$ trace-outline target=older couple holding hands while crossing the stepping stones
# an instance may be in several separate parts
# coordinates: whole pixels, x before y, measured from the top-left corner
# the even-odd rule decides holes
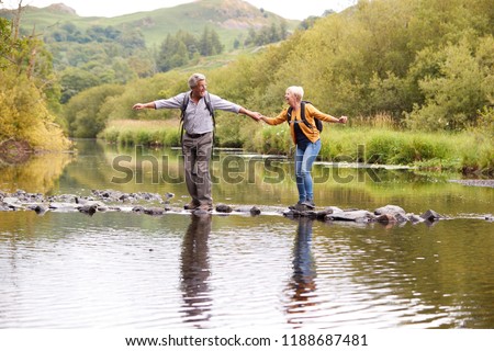
[[[259,112],[252,112],[238,104],[224,100],[207,92],[204,75],[194,73],[189,78],[190,91],[182,92],[169,99],[147,103],[136,103],[133,110],[143,109],[183,109],[182,150],[184,156],[186,184],[191,202],[186,210],[213,210],[210,160],[213,148],[214,110],[240,113],[255,121],[262,120],[269,125],[288,122],[290,134],[296,146],[295,178],[299,190],[299,206],[315,208],[312,180],[312,165],[321,150],[321,132],[316,127],[316,118],[329,123],[347,123],[347,117],[336,118],[318,111],[311,103],[302,101],[302,87],[289,87],[284,93],[288,107],[276,117],[267,117]],[[184,102],[187,105],[183,106]]]

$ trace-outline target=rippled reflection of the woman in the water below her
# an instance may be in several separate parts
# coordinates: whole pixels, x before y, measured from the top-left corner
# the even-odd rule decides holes
[[[312,256],[312,224],[306,217],[299,218],[295,242],[293,245],[293,275],[289,283],[290,302],[288,314],[303,314],[306,307],[314,306],[312,302],[316,291],[316,269]],[[293,316],[290,324],[302,324]]]

